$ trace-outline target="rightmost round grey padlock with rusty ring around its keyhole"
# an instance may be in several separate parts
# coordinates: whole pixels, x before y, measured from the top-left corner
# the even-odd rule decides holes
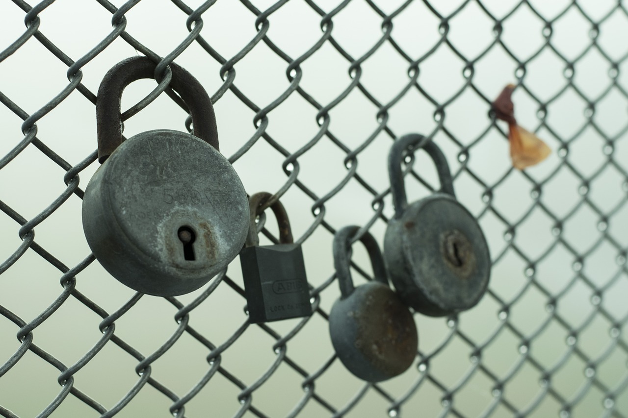
[[[416,147],[436,164],[441,191],[408,205],[401,161]],[[434,142],[409,134],[394,142],[388,169],[395,213],[384,258],[399,296],[430,316],[472,308],[489,284],[489,247],[475,217],[455,198],[447,159]]]

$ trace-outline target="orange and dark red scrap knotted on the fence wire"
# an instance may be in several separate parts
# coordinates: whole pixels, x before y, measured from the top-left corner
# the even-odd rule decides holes
[[[512,90],[514,90],[512,84],[504,87],[492,106],[495,117],[508,123],[512,166],[522,170],[546,159],[551,154],[551,149],[538,136],[517,124],[511,99]]]

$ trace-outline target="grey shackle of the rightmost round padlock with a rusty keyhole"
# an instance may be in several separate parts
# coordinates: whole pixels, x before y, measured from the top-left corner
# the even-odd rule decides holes
[[[413,151],[422,148],[428,153],[438,172],[438,180],[440,181],[441,191],[455,197],[453,191],[452,173],[449,170],[447,158],[440,148],[432,141],[421,134],[408,134],[397,139],[391,151],[388,154],[388,174],[391,183],[391,192],[393,193],[394,217],[401,218],[404,210],[408,206],[408,197],[406,196],[406,187],[404,185],[403,171],[401,170],[401,161],[403,153],[410,147]]]

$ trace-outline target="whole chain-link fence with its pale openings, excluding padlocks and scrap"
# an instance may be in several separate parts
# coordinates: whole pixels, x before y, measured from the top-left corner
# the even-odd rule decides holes
[[[13,3],[0,37],[0,415],[628,416],[621,1]],[[17,19],[23,33],[9,30]],[[197,292],[158,298],[89,254],[80,198],[97,166],[94,92],[135,53],[180,63],[213,93],[222,152],[247,191],[288,208],[311,318],[249,324],[237,261]],[[527,171],[510,166],[489,113],[511,81],[517,119],[555,150]],[[123,104],[157,99],[127,110],[127,137],[183,129],[166,83],[138,84]],[[328,341],[330,242],[349,223],[381,239],[384,156],[407,132],[450,159],[492,281],[466,313],[416,314],[415,365],[366,384]],[[425,156],[407,163],[411,198],[438,188]],[[354,252],[355,280],[368,279]]]

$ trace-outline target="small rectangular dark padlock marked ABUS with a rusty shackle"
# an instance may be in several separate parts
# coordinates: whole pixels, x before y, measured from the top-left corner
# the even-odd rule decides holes
[[[270,207],[279,225],[280,244],[259,245],[257,211],[271,196],[261,192],[249,198],[251,224],[240,252],[249,321],[254,324],[312,313],[301,245],[293,244],[288,214],[279,200]]]

